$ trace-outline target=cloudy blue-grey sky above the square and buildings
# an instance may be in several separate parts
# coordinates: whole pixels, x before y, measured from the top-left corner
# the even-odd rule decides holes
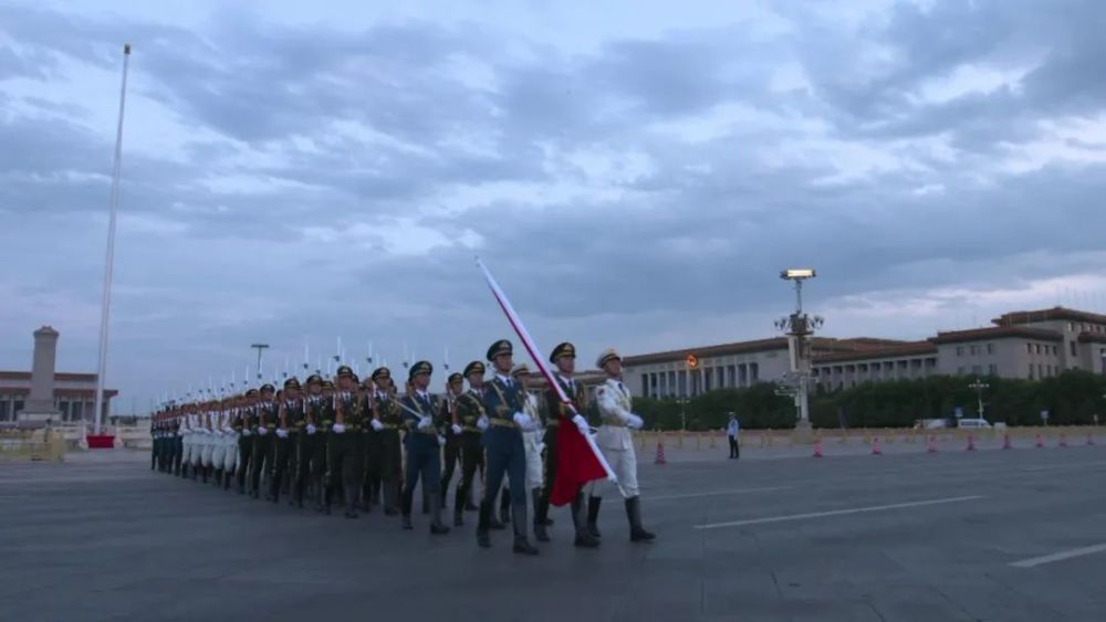
[[[95,369],[127,41],[116,411],[482,358],[474,255],[583,367],[771,336],[787,265],[836,337],[1106,305],[1099,0],[388,4],[4,2],[0,369]]]

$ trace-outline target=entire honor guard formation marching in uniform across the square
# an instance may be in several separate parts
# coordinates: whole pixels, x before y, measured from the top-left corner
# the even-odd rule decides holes
[[[302,384],[289,378],[280,390],[262,384],[240,396],[176,404],[154,418],[150,468],[273,504],[282,495],[296,508],[306,500],[327,515],[341,506],[351,519],[379,508],[398,515],[405,530],[414,528],[417,489],[431,534],[449,534],[441,514],[451,505],[453,527],[465,526],[465,513],[478,513],[480,547],[490,547],[492,530],[510,524],[513,550],[521,555],[539,554],[529,539],[531,512],[534,539],[550,541],[551,498],[571,508],[574,545],[598,547],[603,493],[614,488],[625,503],[630,540],[653,540],[641,526],[630,436],[643,421],[630,410],[618,354],[599,355],[606,380],[589,394],[573,378],[575,347],[560,344],[550,362],[561,391],[549,387],[542,398],[526,389],[531,371],[513,357],[511,341],[495,341],[488,349],[490,369],[470,362],[463,373],[449,376],[440,394],[430,392],[434,367],[418,361],[401,394],[387,367],[362,382],[341,366],[334,382],[315,373]],[[594,433],[582,417],[587,412],[597,417]],[[570,484],[567,495],[551,494],[559,476],[571,479],[573,465],[557,445],[564,433],[576,432],[598,447],[615,479],[592,478]]]

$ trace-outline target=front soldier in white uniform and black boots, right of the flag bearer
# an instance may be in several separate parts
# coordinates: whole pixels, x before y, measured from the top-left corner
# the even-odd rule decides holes
[[[604,350],[595,366],[607,375],[607,380],[595,389],[598,405],[599,426],[595,441],[618,477],[617,488],[626,499],[626,517],[629,520],[629,539],[646,542],[656,538],[641,527],[641,505],[637,489],[637,455],[630,429],[641,428],[641,418],[634,414],[629,389],[622,381],[622,357],[614,349]],[[594,493],[593,493],[594,494]],[[598,496],[598,495],[596,495]]]

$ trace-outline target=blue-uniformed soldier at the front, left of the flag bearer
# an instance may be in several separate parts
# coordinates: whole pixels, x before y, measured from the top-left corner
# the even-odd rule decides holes
[[[511,378],[513,354],[513,347],[507,339],[500,339],[488,348],[488,360],[495,368],[495,378],[484,391],[486,415],[479,422],[484,429],[488,477],[484,497],[480,503],[477,544],[483,548],[491,547],[488,530],[491,526],[492,504],[505,474],[513,504],[513,550],[520,555],[538,555],[538,549],[526,538],[526,450],[522,443],[522,432],[535,429],[536,422],[525,413],[523,388]]]

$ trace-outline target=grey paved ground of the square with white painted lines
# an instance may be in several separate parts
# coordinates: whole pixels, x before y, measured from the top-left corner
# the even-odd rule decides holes
[[[1106,544],[1106,449],[787,451],[649,453],[657,542],[628,542],[608,495],[601,549],[574,549],[556,509],[539,558],[513,556],[508,533],[477,548],[472,514],[446,537],[416,514],[406,533],[153,473],[140,454],[4,463],[0,618],[1103,619],[1106,547],[1088,547]]]

